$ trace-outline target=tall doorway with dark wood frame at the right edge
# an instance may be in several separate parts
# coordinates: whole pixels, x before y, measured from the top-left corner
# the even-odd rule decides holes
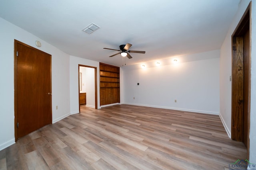
[[[250,147],[251,5],[232,34],[231,138]]]

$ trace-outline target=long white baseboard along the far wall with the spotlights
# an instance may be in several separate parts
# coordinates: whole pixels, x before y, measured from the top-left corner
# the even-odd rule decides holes
[[[196,112],[196,113],[206,113],[206,114],[211,114],[211,115],[219,115],[218,112],[214,112],[214,111],[202,111],[202,110],[193,110],[193,109],[182,109],[182,108],[177,108],[177,107],[164,107],[164,106],[154,106],[154,105],[134,104],[134,103],[124,103],[124,104],[130,104],[130,105],[135,105],[135,106],[145,106],[145,107],[155,107],[155,108],[160,108],[160,109],[190,111],[190,112]]]

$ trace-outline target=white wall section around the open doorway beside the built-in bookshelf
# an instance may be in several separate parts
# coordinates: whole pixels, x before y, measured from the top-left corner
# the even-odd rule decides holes
[[[70,56],[70,113],[71,114],[79,113],[78,64],[97,67],[98,109],[100,108],[100,83],[99,83],[100,82],[100,73],[99,73],[100,63],[97,61]],[[93,69],[93,72],[94,72],[94,69]],[[87,92],[86,92],[86,96],[87,96]]]

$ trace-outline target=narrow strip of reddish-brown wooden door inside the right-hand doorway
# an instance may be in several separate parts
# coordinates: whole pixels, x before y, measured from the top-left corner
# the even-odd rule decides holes
[[[243,143],[247,147],[248,139],[248,95],[250,78],[250,38],[249,29],[244,35],[244,111],[243,111]]]

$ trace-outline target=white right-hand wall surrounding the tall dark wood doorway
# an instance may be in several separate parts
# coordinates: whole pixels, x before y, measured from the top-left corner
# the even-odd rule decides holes
[[[220,116],[231,132],[231,82],[232,69],[231,35],[244,14],[250,0],[240,1],[238,11],[230,25],[226,38],[220,49]],[[250,108],[250,162],[256,162],[256,0],[252,0],[252,51],[251,51],[251,108]]]

